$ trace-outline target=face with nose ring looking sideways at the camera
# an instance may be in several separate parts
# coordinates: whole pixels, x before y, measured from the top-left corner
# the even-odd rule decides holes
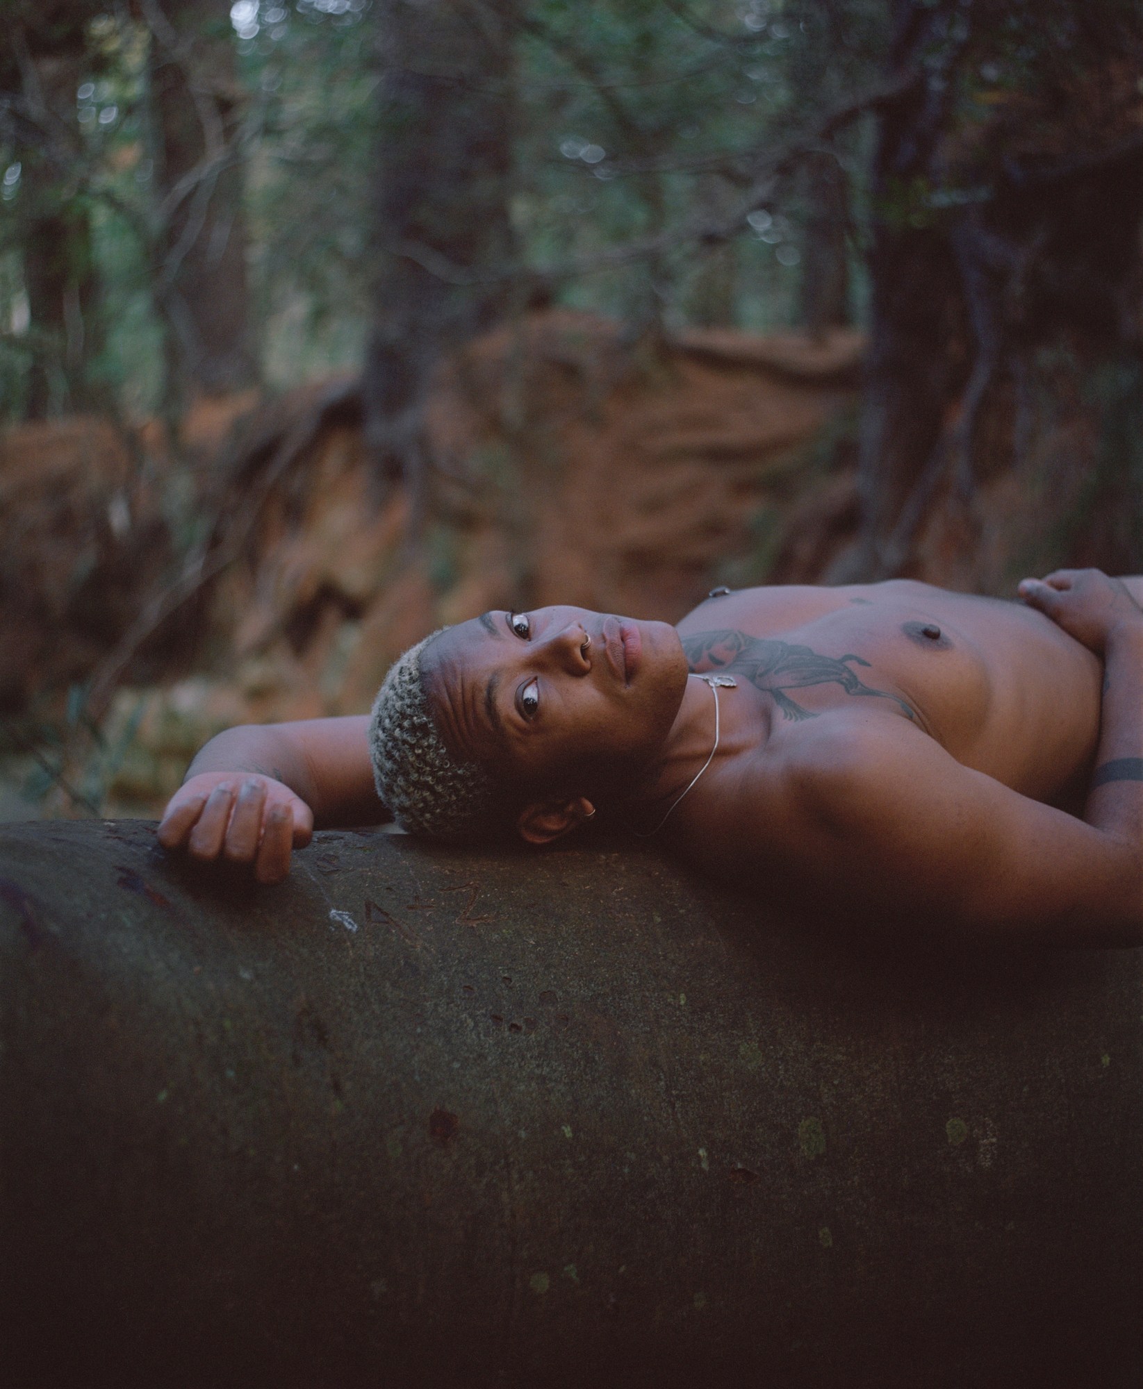
[[[421,669],[456,756],[585,793],[654,761],[687,685],[673,626],[577,607],[485,613],[431,642]]]

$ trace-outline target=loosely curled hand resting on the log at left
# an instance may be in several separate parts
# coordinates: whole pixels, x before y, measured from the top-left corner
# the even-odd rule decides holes
[[[279,882],[289,856],[313,838],[313,811],[289,786],[257,772],[200,772],[167,804],[159,825],[164,849],[192,858],[253,867],[259,882]]]

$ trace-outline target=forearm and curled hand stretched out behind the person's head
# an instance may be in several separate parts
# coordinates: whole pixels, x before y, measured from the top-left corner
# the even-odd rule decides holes
[[[318,826],[378,824],[368,720],[231,728],[196,754],[159,825],[165,849],[249,864],[259,882],[289,872]]]

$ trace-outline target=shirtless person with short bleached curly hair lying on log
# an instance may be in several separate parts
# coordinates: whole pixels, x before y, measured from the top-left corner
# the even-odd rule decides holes
[[[371,720],[211,739],[159,838],[274,882],[314,824],[546,843],[598,811],[787,899],[1143,943],[1143,578],[1019,592],[716,590],[677,628],[485,613],[407,651]]]

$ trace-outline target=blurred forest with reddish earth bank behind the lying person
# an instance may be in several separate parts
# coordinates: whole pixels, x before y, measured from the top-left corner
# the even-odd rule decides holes
[[[489,606],[1143,571],[1137,0],[0,15],[0,817]]]

